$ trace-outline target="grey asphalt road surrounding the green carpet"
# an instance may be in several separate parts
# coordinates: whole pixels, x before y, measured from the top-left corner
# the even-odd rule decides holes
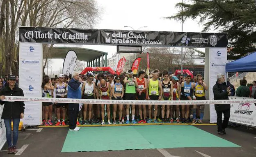
[[[124,126],[125,127],[125,126]],[[217,135],[217,126],[196,126],[213,135]],[[39,128],[36,128],[39,129]],[[227,128],[227,135],[220,136],[241,147],[196,147],[196,148],[165,148],[148,150],[121,150],[101,152],[61,153],[67,127],[43,128],[19,132],[18,148],[25,148],[21,157],[256,157],[256,130],[245,127]],[[200,135],[196,135],[200,138]],[[217,135],[219,136],[219,135]],[[0,157],[7,155],[7,144],[0,152]],[[18,155],[18,154],[16,154]]]

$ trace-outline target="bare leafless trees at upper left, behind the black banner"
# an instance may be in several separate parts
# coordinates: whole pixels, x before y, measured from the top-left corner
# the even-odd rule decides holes
[[[91,28],[99,9],[94,0],[0,0],[0,71],[18,74],[18,26]],[[46,60],[53,45],[44,45]],[[43,71],[46,63],[43,65]]]

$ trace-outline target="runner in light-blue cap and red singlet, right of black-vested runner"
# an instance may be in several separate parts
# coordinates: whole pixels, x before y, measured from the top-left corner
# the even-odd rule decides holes
[[[173,84],[173,100],[181,100],[181,85],[178,83],[178,77],[172,76],[171,77],[171,82]],[[175,106],[175,107],[174,107]],[[174,110],[175,110],[175,116],[176,116],[176,122],[181,123],[179,120],[179,115],[180,115],[180,108],[179,105],[170,105],[170,123],[174,122]]]

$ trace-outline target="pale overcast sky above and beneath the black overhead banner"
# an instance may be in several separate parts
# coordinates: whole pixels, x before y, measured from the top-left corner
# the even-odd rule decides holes
[[[94,29],[129,29],[145,31],[181,31],[181,22],[166,20],[164,17],[175,15],[178,8],[176,3],[182,0],[97,0],[102,9],[101,20]],[[185,0],[185,2],[188,0]],[[187,20],[183,23],[184,32],[201,32],[202,25],[198,20]],[[214,32],[214,31],[212,31]],[[63,45],[62,45],[63,46]],[[71,45],[69,45],[71,46]],[[77,45],[74,45],[77,46]],[[108,53],[112,57],[117,50],[116,46],[78,45],[88,49],[96,49]],[[64,56],[63,56],[64,57]],[[53,59],[52,71],[58,71],[63,65],[62,59]],[[49,70],[48,70],[49,73]]]

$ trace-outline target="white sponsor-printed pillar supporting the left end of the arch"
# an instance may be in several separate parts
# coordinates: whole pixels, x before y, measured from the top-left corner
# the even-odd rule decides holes
[[[19,87],[24,96],[41,97],[43,75],[43,49],[40,43],[20,43],[19,53]],[[25,102],[23,124],[41,124],[41,102]]]

